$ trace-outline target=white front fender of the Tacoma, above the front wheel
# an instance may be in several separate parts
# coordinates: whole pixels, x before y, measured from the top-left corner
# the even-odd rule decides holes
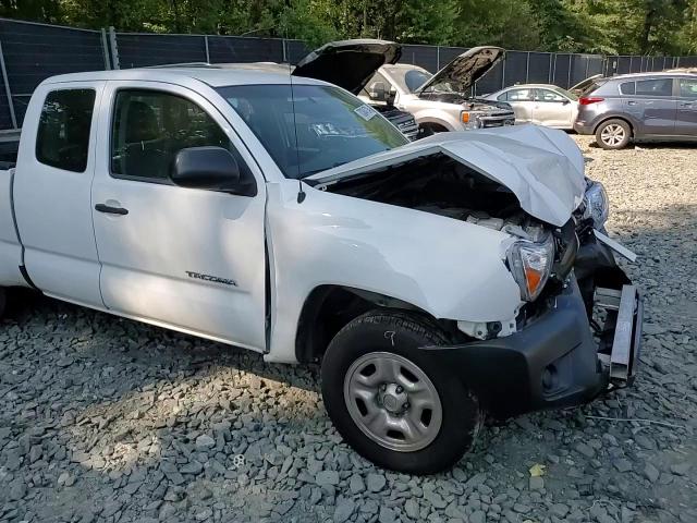
[[[504,264],[508,233],[298,182],[268,185],[271,354],[294,361],[310,292],[344,285],[407,302],[436,318],[512,321],[519,289]]]

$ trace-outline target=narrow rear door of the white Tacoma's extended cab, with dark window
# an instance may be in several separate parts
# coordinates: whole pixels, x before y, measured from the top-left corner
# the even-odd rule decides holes
[[[24,118],[14,207],[24,265],[46,294],[103,307],[90,187],[103,82],[40,85]],[[37,124],[38,122],[38,129]]]

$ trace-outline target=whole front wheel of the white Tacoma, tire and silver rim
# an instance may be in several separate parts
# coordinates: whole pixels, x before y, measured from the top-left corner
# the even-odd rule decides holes
[[[359,454],[409,474],[453,466],[475,442],[482,415],[456,373],[424,346],[447,343],[427,319],[370,312],[329,344],[321,389],[329,417]]]

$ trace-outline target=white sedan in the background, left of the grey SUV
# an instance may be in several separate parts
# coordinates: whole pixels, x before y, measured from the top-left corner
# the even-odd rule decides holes
[[[522,84],[484,97],[508,102],[516,123],[537,123],[554,129],[574,129],[578,114],[578,97],[550,84]]]

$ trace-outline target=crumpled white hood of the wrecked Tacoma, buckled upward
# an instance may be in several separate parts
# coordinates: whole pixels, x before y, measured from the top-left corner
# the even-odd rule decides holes
[[[563,131],[537,125],[440,133],[359,158],[305,179],[317,184],[444,154],[501,183],[530,216],[557,227],[580,204],[586,182],[580,149]]]

